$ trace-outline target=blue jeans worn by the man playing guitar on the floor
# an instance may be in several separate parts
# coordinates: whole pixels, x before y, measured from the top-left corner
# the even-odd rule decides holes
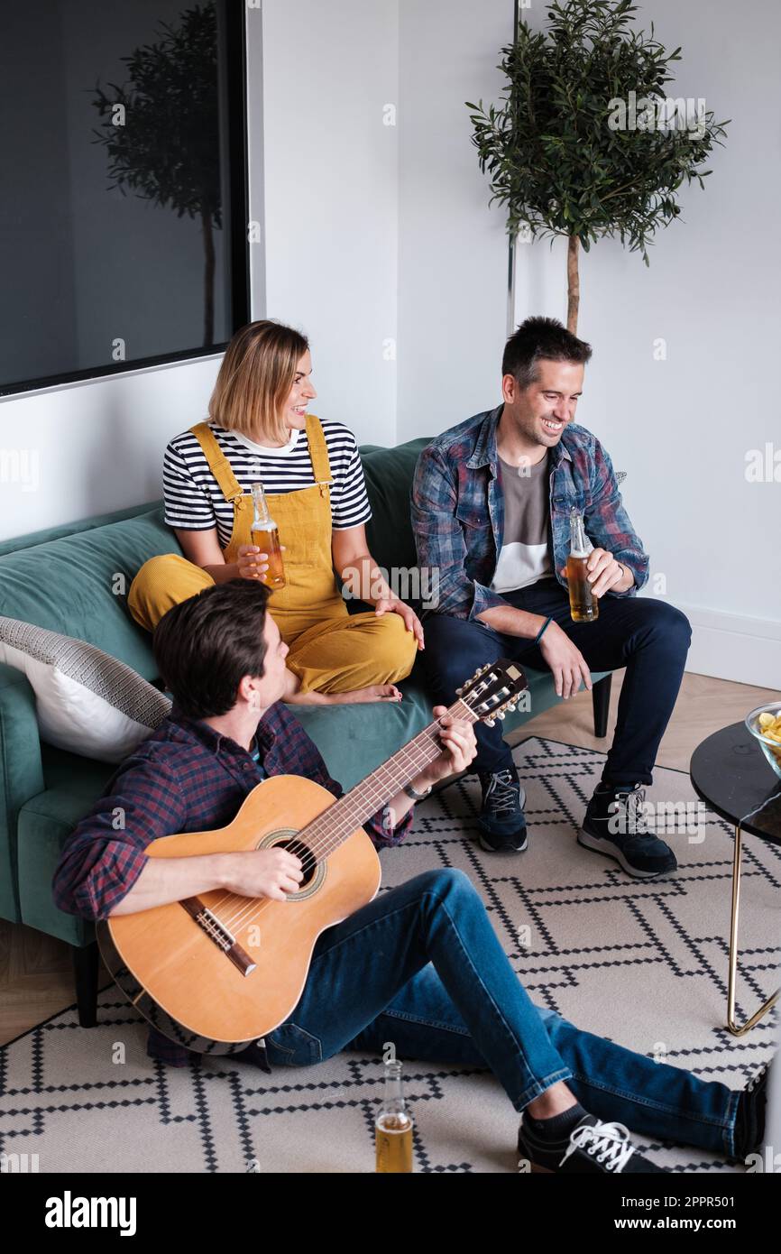
[[[598,1119],[735,1152],[738,1093],[582,1032],[530,1001],[461,870],[429,870],[318,938],[290,1018],[266,1037],[272,1066],[341,1050],[490,1070],[515,1110],[559,1080]]]

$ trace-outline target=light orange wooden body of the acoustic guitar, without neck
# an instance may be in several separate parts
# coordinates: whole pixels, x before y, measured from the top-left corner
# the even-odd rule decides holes
[[[227,826],[153,841],[150,858],[267,849],[295,841],[333,805],[327,789],[297,775],[263,780]],[[336,843],[335,843],[336,844]],[[119,987],[153,1026],[199,1052],[266,1036],[290,1017],[326,928],[366,905],[380,859],[362,828],[327,856],[307,858],[305,880],[283,902],[227,889],[201,893],[98,924],[100,952]]]

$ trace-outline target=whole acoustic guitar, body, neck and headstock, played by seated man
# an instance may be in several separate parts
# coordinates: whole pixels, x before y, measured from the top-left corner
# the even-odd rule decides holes
[[[456,690],[448,714],[493,725],[527,687],[514,662],[489,663]],[[227,828],[148,845],[150,858],[282,845],[303,870],[283,902],[212,889],[97,924],[109,972],[159,1032],[198,1053],[229,1053],[290,1017],[321,932],[380,887],[380,859],[361,824],[441,754],[438,730],[431,722],[338,800],[312,780],[275,775],[248,794]]]

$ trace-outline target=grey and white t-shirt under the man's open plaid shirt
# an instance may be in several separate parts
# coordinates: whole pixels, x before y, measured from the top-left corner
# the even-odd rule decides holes
[[[513,592],[553,574],[548,548],[548,455],[534,466],[513,466],[499,458],[499,475],[504,494],[504,537],[491,589]]]

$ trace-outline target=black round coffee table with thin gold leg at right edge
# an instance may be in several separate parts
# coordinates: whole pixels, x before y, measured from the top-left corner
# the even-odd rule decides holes
[[[781,779],[743,722],[733,722],[703,740],[692,754],[689,775],[695,791],[706,805],[735,826],[727,1028],[733,1036],[742,1036],[776,1004],[781,992],[777,989],[768,997],[745,1023],[736,1022],[735,986],[743,833],[781,844]]]

